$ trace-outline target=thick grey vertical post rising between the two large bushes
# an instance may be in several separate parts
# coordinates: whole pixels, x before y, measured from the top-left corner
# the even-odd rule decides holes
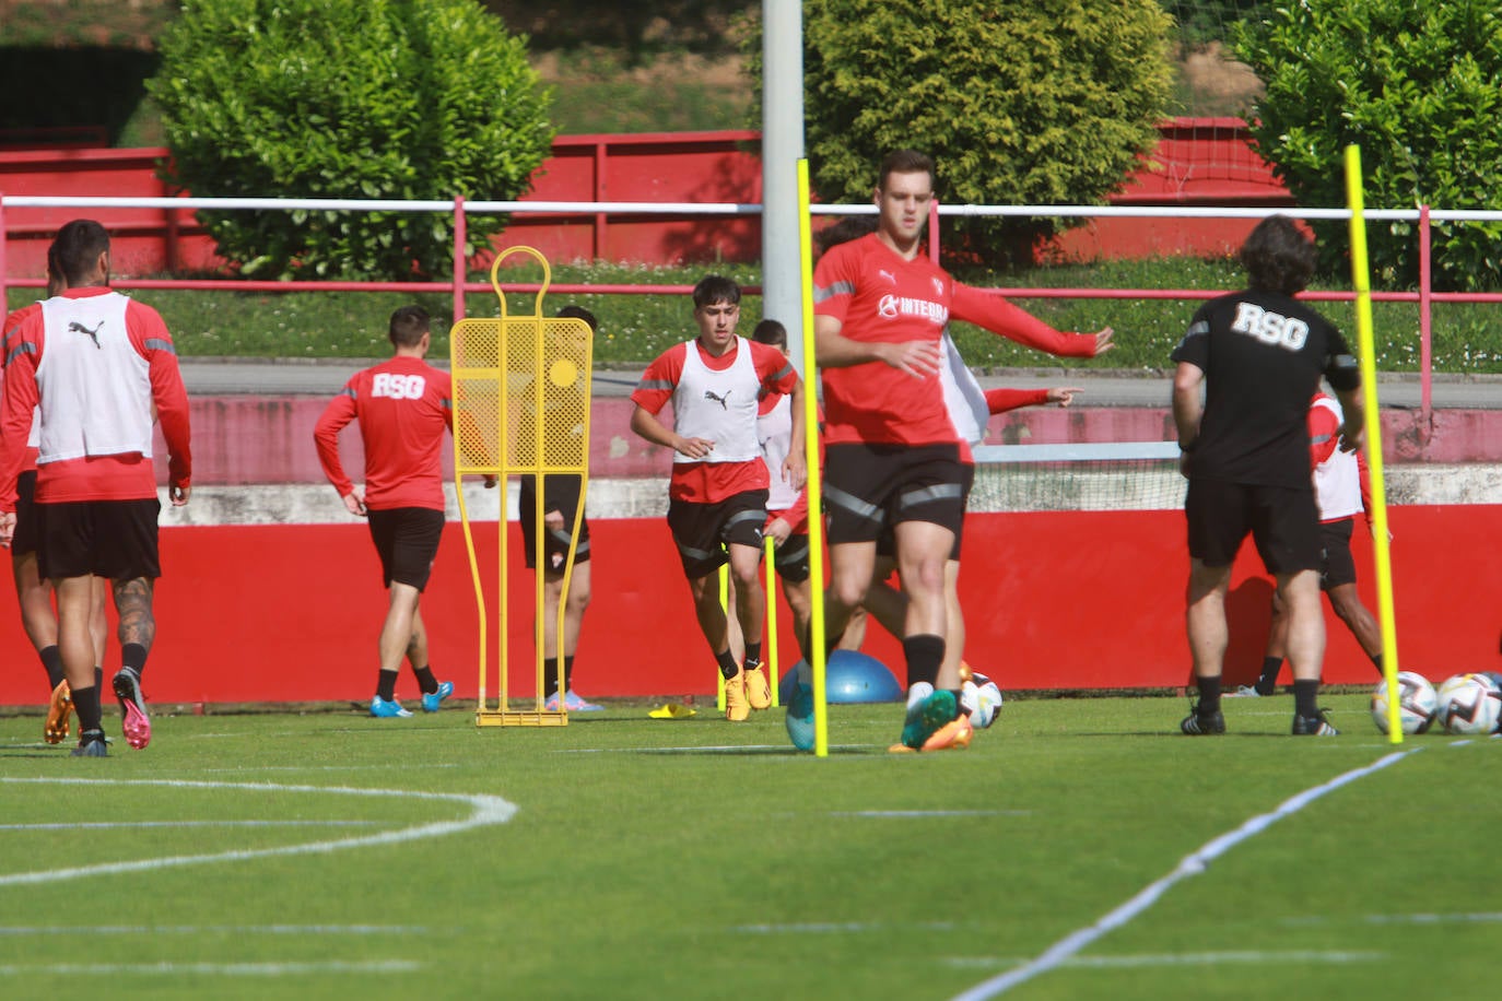
[[[804,366],[798,267],[798,161],[804,156],[802,0],[762,0],[762,311],[787,327]]]

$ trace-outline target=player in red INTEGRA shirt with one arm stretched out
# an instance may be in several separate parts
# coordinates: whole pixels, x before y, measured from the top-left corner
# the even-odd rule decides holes
[[[945,656],[945,573],[957,555],[970,458],[940,387],[945,326],[964,320],[1074,357],[1093,357],[1111,342],[1108,327],[1062,333],[955,282],[921,252],[933,197],[933,161],[915,150],[891,153],[874,191],[876,233],[831,246],[814,270],[828,456],[826,641],[840,641],[865,600],[877,540],[891,533],[907,596],[901,746],[912,750],[963,747],[970,738],[958,702],[958,657]]]

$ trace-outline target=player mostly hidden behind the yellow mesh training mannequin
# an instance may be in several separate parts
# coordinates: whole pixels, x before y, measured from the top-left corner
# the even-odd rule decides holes
[[[563,306],[559,317],[572,317],[589,324],[593,335],[599,329],[595,314],[583,306]],[[544,387],[544,401],[547,401]],[[526,399],[527,395],[521,393]],[[548,404],[544,402],[544,407]],[[523,431],[523,435],[529,434]],[[521,522],[523,558],[529,570],[536,570],[538,563],[538,485],[536,477],[520,477],[517,492],[517,515]],[[574,690],[574,657],[578,651],[578,635],[584,624],[584,609],[590,599],[590,546],[589,519],[580,507],[581,483],[577,476],[556,474],[544,477],[542,485],[542,684],[545,702],[550,713],[557,711],[559,674],[563,675],[562,704],[569,713],[598,713],[604,705],[596,705]],[[568,600],[563,599],[563,563],[568,560],[568,548],[574,533],[574,519],[578,519],[578,543],[574,548],[574,572],[569,575]],[[563,603],[563,635],[559,636],[559,602]],[[559,657],[562,656],[562,663]]]

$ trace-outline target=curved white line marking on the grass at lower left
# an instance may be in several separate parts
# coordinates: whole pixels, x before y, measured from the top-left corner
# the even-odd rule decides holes
[[[47,869],[41,872],[14,872],[0,875],[0,887],[29,885],[39,882],[57,882],[62,879],[77,879],[93,875],[116,875],[122,872],[150,872],[171,866],[197,866],[210,861],[245,861],[248,858],[272,858],[278,855],[309,855],[344,851],[348,848],[366,848],[371,845],[398,845],[424,837],[442,837],[458,834],[478,827],[505,824],[517,813],[517,806],[499,795],[484,794],[452,794],[452,792],[415,792],[410,789],[354,789],[347,786],[323,785],[278,785],[272,782],[194,782],[186,779],[9,779],[0,777],[0,783],[32,783],[32,785],[117,785],[117,786],[170,786],[177,789],[237,789],[242,792],[308,792],[315,795],[360,795],[360,797],[391,797],[409,800],[434,800],[440,803],[458,803],[470,807],[470,815],[458,821],[434,821],[403,827],[394,831],[363,834],[359,837],[344,837],[338,840],[315,840],[302,845],[281,845],[276,848],[254,848],[222,851],[203,855],[168,855],[165,858],[141,858],[140,861],[110,861],[96,866],[75,866],[69,869]]]

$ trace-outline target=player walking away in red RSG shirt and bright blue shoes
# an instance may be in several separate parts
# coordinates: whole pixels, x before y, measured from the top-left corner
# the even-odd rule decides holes
[[[433,677],[428,630],[418,609],[443,536],[440,450],[445,431],[452,431],[454,384],[448,372],[424,360],[433,342],[425,309],[403,306],[394,312],[388,336],[395,348],[392,357],[356,372],[312,431],[323,473],[344,507],[369,521],[382,579],[391,591],[369,705],[379,719],[412,716],[395,693],[404,657],[418,678],[424,711],[439,711],[454,693],[452,681]],[[351,420],[359,420],[365,446],[363,491],[339,462],[339,431]],[[485,479],[485,486],[494,485],[494,477]]]

